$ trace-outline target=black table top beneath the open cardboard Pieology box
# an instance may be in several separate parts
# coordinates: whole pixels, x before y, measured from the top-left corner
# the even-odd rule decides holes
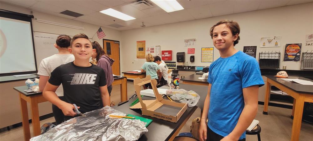
[[[166,96],[163,97],[164,99],[167,99]],[[132,98],[129,100],[129,102],[124,103],[121,106],[114,106],[113,108],[116,110],[119,110],[121,112],[132,114],[148,119],[152,119],[152,123],[147,127],[148,132],[143,134],[141,138],[139,138],[139,141],[161,141],[161,140],[169,140],[171,136],[175,133],[175,131],[179,128],[180,125],[182,125],[183,121],[188,117],[188,115],[191,115],[194,111],[196,111],[197,106],[194,107],[187,107],[186,112],[183,113],[182,117],[177,121],[177,123],[172,123],[170,121],[153,118],[146,115],[141,115],[140,109],[129,109],[129,105],[135,101],[137,97]],[[143,100],[153,100],[156,99],[154,97],[142,97]]]

